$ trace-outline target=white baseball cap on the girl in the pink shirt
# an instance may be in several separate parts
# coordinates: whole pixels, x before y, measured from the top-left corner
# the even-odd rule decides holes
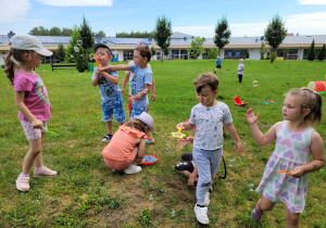
[[[45,49],[41,41],[30,35],[15,35],[11,38],[11,47],[18,50],[32,50],[43,56],[51,56],[53,53]]]

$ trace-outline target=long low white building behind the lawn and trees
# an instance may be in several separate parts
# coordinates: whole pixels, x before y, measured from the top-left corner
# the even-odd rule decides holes
[[[3,65],[4,58],[9,53],[9,41],[14,33],[10,31],[8,35],[0,35],[0,65]],[[37,36],[43,46],[55,52],[58,45],[62,42],[64,47],[67,47],[71,37],[60,36]],[[168,47],[168,55],[162,56],[162,50],[158,47],[155,40],[152,38],[102,38],[96,37],[96,42],[102,42],[108,45],[114,54],[114,61],[127,61],[133,59],[133,48],[138,41],[147,41],[150,48],[154,48],[156,54],[153,60],[164,59],[185,59],[189,58],[187,49],[191,47],[191,41],[195,37],[181,33],[174,33],[171,37],[171,46]],[[309,36],[293,36],[288,35],[283,43],[277,49],[277,55],[284,56],[284,51],[287,50],[289,59],[305,60],[308,54],[308,48],[312,41],[315,42],[316,53],[322,49],[323,45],[326,43],[326,35],[309,35]],[[246,59],[260,60],[260,48],[262,42],[265,42],[264,37],[231,37],[229,43],[226,45],[220,52],[222,59]],[[214,48],[215,43],[213,38],[205,38],[203,53],[199,59],[205,59],[210,49]],[[268,48],[268,47],[267,47]],[[47,58],[46,63],[58,62],[55,55]]]

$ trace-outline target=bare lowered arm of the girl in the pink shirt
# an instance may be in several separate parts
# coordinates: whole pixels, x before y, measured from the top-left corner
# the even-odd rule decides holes
[[[21,113],[30,122],[34,128],[42,128],[43,123],[37,119],[28,107],[24,104],[25,91],[15,91],[15,105]]]

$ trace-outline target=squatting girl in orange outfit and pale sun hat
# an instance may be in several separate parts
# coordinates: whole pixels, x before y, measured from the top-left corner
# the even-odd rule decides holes
[[[153,118],[146,112],[122,125],[113,135],[110,143],[102,151],[105,164],[125,174],[141,170],[147,134],[153,130]]]

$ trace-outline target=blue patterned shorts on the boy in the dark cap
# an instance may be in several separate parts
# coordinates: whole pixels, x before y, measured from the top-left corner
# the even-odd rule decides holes
[[[126,121],[122,96],[117,96],[111,101],[101,101],[101,106],[103,122],[111,122],[113,119],[113,114],[117,123],[124,123]]]

